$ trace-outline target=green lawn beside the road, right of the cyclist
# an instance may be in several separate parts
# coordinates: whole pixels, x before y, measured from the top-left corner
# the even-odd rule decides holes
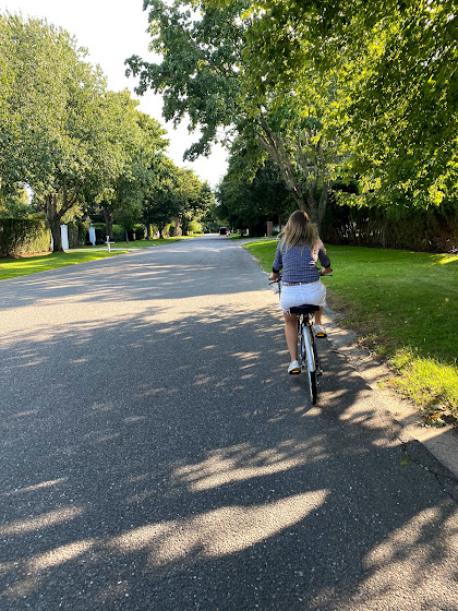
[[[246,248],[272,269],[276,240]],[[458,423],[458,255],[326,247],[328,302],[430,421]]]

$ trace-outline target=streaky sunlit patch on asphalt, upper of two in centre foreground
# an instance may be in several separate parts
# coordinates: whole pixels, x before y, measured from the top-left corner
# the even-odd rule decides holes
[[[172,478],[197,492],[219,488],[233,482],[272,476],[294,467],[326,459],[324,439],[306,442],[288,440],[268,450],[258,450],[250,444],[216,450],[198,464],[177,464]]]

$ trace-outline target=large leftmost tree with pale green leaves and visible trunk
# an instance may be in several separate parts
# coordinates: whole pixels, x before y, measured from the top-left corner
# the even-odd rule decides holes
[[[105,80],[64,31],[20,16],[1,22],[0,46],[14,75],[2,96],[9,116],[0,124],[2,177],[33,189],[53,248],[61,250],[62,218],[81,204],[79,191],[104,146],[98,119]]]

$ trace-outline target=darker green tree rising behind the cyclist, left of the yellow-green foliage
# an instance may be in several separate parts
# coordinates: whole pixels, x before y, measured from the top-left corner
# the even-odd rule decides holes
[[[250,74],[256,58],[243,52],[251,26],[251,17],[244,17],[248,7],[245,1],[222,8],[191,0],[173,5],[145,1],[152,45],[164,59],[152,64],[134,56],[128,60],[128,72],[140,77],[138,93],[152,87],[162,94],[166,119],[178,122],[188,115],[190,129],[201,128],[202,136],[186,152],[188,158],[208,154],[212,143],[225,141],[225,130],[252,132],[278,165],[297,205],[320,223],[332,169],[324,151],[335,148],[320,115],[326,111],[324,98],[332,89],[314,92],[313,100],[303,96],[299,100],[276,86],[254,83]],[[309,89],[312,85],[313,76]],[[299,116],[293,109],[301,109]]]

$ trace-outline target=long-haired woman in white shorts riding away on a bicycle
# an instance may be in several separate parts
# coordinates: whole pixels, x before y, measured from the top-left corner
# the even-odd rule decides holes
[[[291,314],[289,310],[305,303],[320,306],[320,310],[315,312],[315,336],[326,337],[326,332],[322,326],[326,287],[322,284],[320,276],[330,274],[333,269],[316,227],[305,212],[293,212],[280,232],[280,237],[269,279],[277,280],[282,269],[280,308],[285,316],[285,336],[291,356],[288,373],[300,373],[298,316]],[[322,272],[316,267],[318,260],[324,267]]]

